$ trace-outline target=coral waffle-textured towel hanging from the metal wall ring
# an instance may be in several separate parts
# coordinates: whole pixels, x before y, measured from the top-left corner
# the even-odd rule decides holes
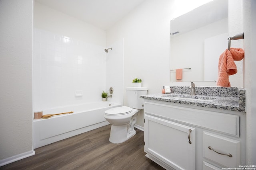
[[[226,49],[222,55],[220,55],[218,64],[218,80],[217,86],[230,87],[228,76],[236,74],[235,61],[240,61],[244,58],[244,50],[238,48],[230,48],[230,51]]]

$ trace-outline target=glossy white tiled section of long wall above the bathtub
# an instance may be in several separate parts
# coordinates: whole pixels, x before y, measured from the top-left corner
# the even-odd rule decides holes
[[[33,69],[35,111],[99,102],[106,89],[104,47],[37,28]]]

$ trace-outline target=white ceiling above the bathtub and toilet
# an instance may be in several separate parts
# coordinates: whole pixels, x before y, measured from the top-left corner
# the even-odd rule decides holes
[[[40,4],[104,30],[121,20],[144,0],[36,0]]]

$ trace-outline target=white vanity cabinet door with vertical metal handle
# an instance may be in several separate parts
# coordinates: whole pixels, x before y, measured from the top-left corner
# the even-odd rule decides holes
[[[167,169],[195,170],[196,130],[145,114],[144,151]]]

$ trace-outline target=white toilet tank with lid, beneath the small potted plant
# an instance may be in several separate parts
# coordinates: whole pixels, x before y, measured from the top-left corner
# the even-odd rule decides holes
[[[148,91],[147,87],[127,87],[126,88],[126,98],[127,105],[134,109],[143,109],[143,99],[140,98],[141,95],[146,95]]]

